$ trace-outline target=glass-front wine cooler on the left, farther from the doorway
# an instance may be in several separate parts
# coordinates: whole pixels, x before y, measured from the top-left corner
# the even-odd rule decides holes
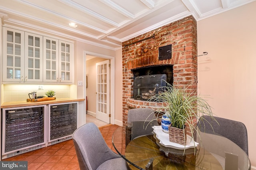
[[[46,105],[2,109],[2,158],[46,145]]]

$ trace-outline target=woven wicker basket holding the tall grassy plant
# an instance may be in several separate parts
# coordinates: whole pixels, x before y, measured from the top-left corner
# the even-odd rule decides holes
[[[187,141],[187,127],[184,126],[184,129],[171,127],[171,125],[168,127],[169,130],[169,140],[170,142],[186,145]],[[184,135],[185,134],[185,135]],[[184,139],[185,137],[185,139]]]

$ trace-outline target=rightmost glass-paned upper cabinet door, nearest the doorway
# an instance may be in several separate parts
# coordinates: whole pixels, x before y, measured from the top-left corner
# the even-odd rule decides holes
[[[72,43],[59,41],[59,53],[60,53],[60,72],[59,72],[59,81],[60,82],[72,82],[71,79],[71,70],[72,70]]]

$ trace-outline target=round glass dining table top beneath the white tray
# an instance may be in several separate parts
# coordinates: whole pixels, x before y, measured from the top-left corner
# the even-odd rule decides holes
[[[153,128],[152,135],[138,136],[125,144],[124,131],[124,127],[115,130],[112,144],[132,170],[250,170],[251,167],[244,150],[218,134],[200,132],[200,138],[195,139],[198,144],[186,145],[184,149],[163,144]]]

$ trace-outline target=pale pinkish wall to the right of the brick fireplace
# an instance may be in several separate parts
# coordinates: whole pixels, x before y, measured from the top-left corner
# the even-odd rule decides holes
[[[197,23],[198,94],[210,95],[218,117],[244,123],[256,166],[256,2]],[[239,136],[239,134],[238,134]]]

